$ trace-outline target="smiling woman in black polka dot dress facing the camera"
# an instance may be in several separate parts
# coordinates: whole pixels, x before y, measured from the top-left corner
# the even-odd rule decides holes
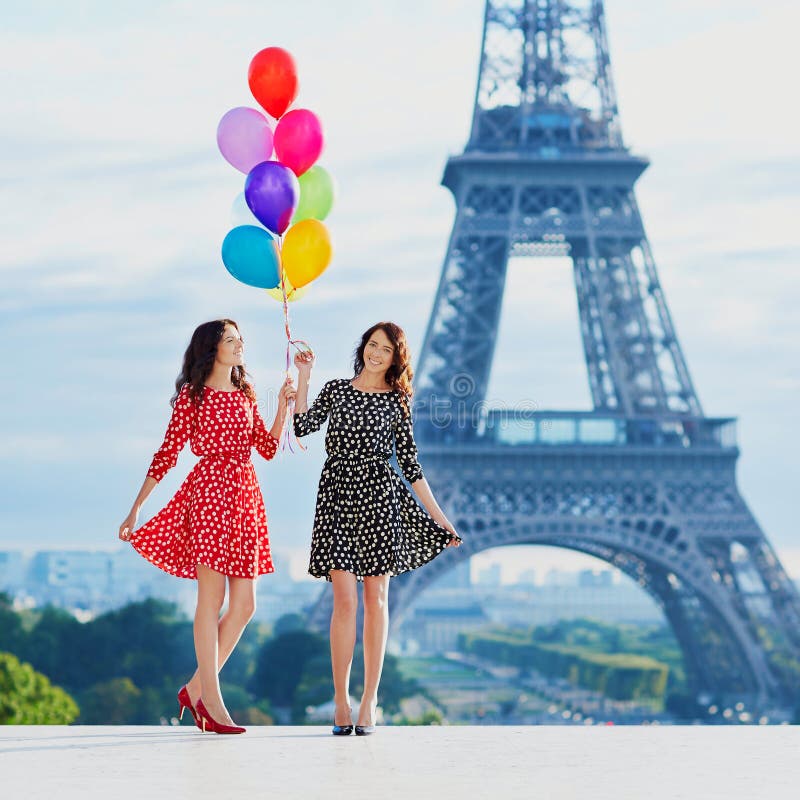
[[[364,582],[364,693],[356,734],[375,727],[378,684],[389,628],[389,578],[426,564],[461,539],[439,508],[417,461],[411,424],[411,358],[403,330],[373,325],[361,337],[355,376],[326,383],[308,408],[314,357],[299,353],[294,430],[313,433],[328,420],[308,571],[333,584],[331,664],[334,734],[353,730],[350,667],[356,642],[357,581]],[[405,479],[389,463],[392,450]]]

